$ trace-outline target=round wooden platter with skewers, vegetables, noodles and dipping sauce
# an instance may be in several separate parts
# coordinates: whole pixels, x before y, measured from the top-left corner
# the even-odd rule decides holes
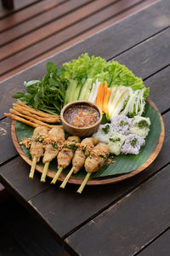
[[[159,154],[161,113],[143,80],[117,61],[84,54],[63,67],[48,62],[42,80],[24,84],[26,93],[16,93],[5,114],[14,119],[14,146],[30,177],[37,170],[42,182],[81,184],[82,193],[86,183],[133,177]]]

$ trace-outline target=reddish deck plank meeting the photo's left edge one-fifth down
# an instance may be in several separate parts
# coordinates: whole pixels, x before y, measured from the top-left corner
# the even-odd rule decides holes
[[[126,0],[122,0],[122,1],[126,1]],[[138,0],[134,0],[134,1],[136,2]],[[65,27],[71,26],[71,24],[76,23],[78,20],[82,20],[82,19],[86,18],[88,15],[92,15],[92,14],[98,12],[100,9],[105,9],[112,2],[113,2],[113,0],[94,1],[92,3],[89,3],[88,5],[83,6],[80,9],[77,9],[73,13],[67,14],[66,19],[65,19],[65,16],[61,17],[58,20],[54,20],[53,22],[50,22],[46,26],[40,27],[38,29],[38,32],[33,31],[33,32],[27,34],[26,36],[23,36],[22,38],[18,38],[16,40],[14,40],[14,42],[4,45],[1,48],[2,54],[0,55],[0,60],[7,58],[9,55],[13,55],[14,53],[20,51],[21,49],[25,49],[26,47],[29,47],[31,44],[36,44],[38,41],[41,41],[44,38],[48,38],[49,36],[53,35],[56,32],[59,32],[60,30],[64,29]],[[112,4],[107,9],[108,15],[112,15],[112,12],[115,12],[115,11],[116,11],[115,4]],[[103,13],[103,11],[102,11],[102,13]],[[87,24],[86,24],[86,26],[87,26]],[[59,30],[56,29],[57,27],[59,27]],[[60,37],[60,36],[58,35],[58,37]],[[68,37],[68,34],[67,34],[67,37]],[[53,42],[52,38],[51,38],[51,40]]]

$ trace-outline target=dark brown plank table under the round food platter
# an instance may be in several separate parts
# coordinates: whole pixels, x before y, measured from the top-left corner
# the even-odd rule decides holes
[[[77,195],[75,185],[61,190],[49,180],[40,183],[39,173],[29,179],[30,166],[17,154],[11,121],[3,113],[25,80],[42,78],[47,61],[61,65],[82,52],[114,58],[144,79],[166,133],[161,153],[143,172],[121,183],[88,186]],[[170,3],[162,0],[0,84],[0,182],[71,255],[170,255],[169,52]]]

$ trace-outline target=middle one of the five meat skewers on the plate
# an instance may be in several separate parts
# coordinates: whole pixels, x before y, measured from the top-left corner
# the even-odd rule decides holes
[[[74,151],[77,147],[76,143],[80,143],[80,138],[77,136],[71,136],[71,137],[67,138],[65,143],[66,144],[65,144],[64,148],[62,148],[61,151],[59,151],[59,154],[57,155],[59,169],[51,182],[52,184],[56,183],[56,181],[58,180],[58,177],[59,177],[60,173],[63,171],[63,169],[65,169],[67,166],[70,165],[71,160],[74,155]]]

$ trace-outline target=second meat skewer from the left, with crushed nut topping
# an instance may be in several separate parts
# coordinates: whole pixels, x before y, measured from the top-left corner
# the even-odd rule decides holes
[[[60,145],[65,141],[65,131],[56,126],[48,131],[48,142],[45,145],[45,152],[43,154],[42,162],[44,164],[41,182],[45,182],[45,178],[48,172],[49,162],[53,160],[59,153]],[[46,140],[45,140],[46,141]]]

